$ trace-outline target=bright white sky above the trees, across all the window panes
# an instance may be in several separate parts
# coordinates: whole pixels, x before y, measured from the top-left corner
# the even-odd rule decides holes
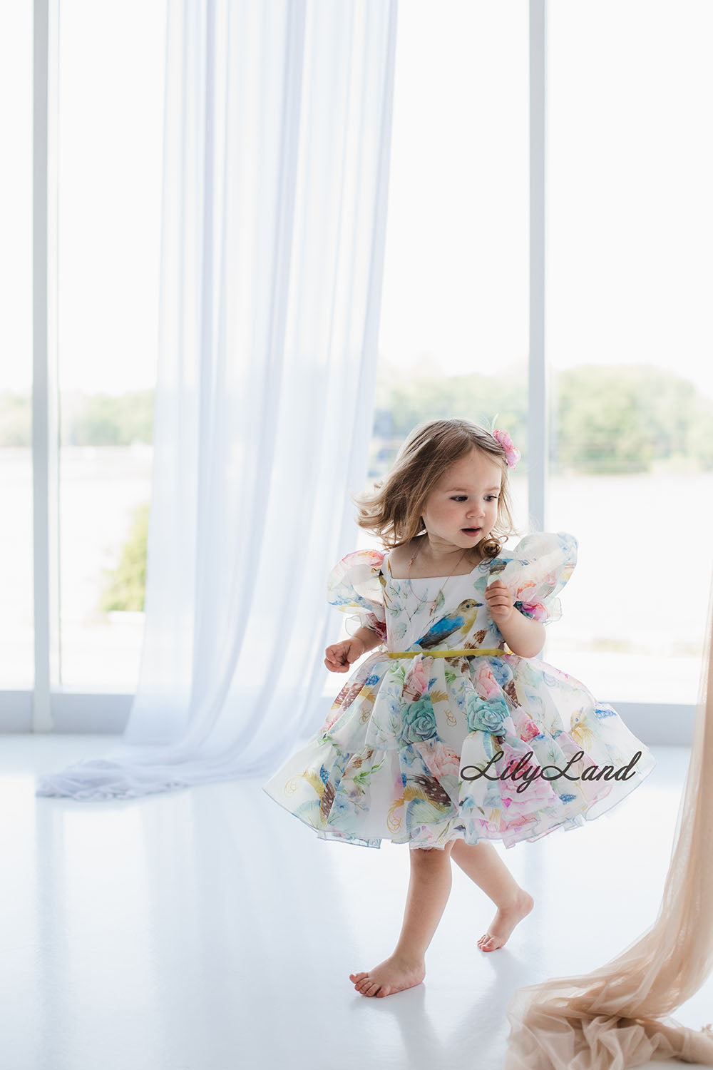
[[[165,3],[62,0],[65,388],[154,382]],[[31,369],[31,9],[9,5],[0,39],[0,389]],[[557,367],[650,362],[713,397],[713,4],[672,10],[547,4],[545,340]],[[399,4],[379,353],[404,368],[526,357],[527,14]]]

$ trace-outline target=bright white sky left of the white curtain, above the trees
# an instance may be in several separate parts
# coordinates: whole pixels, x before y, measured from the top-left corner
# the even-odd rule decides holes
[[[62,388],[122,393],[155,383],[165,19],[166,0],[61,2]],[[2,317],[13,360],[3,361],[0,389],[29,389],[31,382],[31,34],[32,3],[9,4],[0,109],[15,167],[0,172],[7,235],[0,273],[3,293],[13,294]]]

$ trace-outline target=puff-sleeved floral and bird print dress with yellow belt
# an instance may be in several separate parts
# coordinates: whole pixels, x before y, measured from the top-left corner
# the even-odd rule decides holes
[[[610,810],[653,755],[580,681],[512,654],[484,596],[500,579],[515,610],[547,626],[576,553],[567,532],[526,535],[445,585],[394,579],[382,550],[348,553],[329,574],[328,601],[351,614],[352,633],[368,625],[382,645],[263,790],[321,839],[368,847],[511,847]],[[479,648],[502,653],[434,656]],[[416,655],[389,657],[399,651]]]

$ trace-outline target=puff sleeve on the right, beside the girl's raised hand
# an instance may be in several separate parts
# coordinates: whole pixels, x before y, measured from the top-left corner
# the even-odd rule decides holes
[[[506,584],[515,609],[524,616],[545,625],[559,621],[562,607],[557,595],[574,571],[577,546],[568,532],[536,532],[514,547],[497,579]]]

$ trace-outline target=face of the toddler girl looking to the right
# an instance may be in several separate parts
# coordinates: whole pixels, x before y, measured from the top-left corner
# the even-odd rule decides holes
[[[422,511],[434,550],[463,550],[487,538],[497,519],[500,471],[474,447],[445,472]]]

